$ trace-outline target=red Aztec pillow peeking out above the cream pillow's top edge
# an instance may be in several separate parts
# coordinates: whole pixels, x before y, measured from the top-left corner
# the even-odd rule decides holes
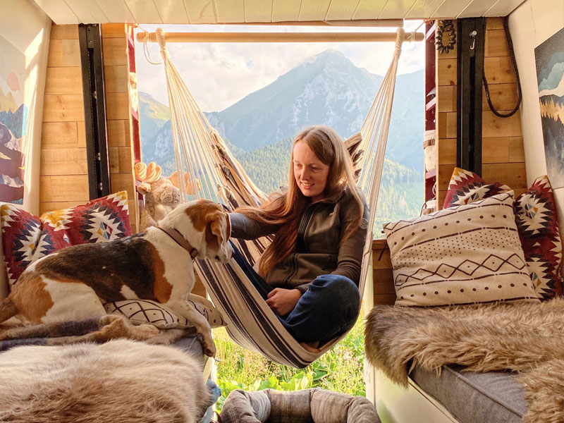
[[[453,176],[450,177],[450,183],[448,184],[443,209],[493,197],[510,190],[511,188],[507,185],[502,185],[498,182],[486,184],[476,173],[465,171],[461,168],[454,168]]]

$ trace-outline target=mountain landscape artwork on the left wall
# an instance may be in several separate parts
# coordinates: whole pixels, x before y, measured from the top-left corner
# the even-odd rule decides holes
[[[25,138],[25,55],[0,36],[0,201],[23,204]]]

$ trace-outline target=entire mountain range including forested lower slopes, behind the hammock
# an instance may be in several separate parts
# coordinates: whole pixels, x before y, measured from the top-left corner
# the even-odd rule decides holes
[[[386,219],[413,216],[423,202],[423,78],[423,71],[397,77],[385,166],[393,168],[393,178],[383,177],[380,196],[397,204]],[[326,50],[227,109],[205,115],[259,188],[270,192],[286,182],[292,138],[314,124],[329,125],[343,138],[357,133],[382,80],[341,52]],[[145,92],[140,125],[143,161],[156,161],[164,174],[174,171],[170,111]]]

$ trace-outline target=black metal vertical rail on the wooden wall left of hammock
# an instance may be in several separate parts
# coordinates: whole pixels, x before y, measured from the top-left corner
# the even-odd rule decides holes
[[[111,192],[104,60],[99,24],[78,25],[90,200]]]

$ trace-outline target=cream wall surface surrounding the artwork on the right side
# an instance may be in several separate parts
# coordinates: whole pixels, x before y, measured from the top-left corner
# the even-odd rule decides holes
[[[544,153],[534,49],[564,28],[564,2],[526,0],[510,14],[509,28],[523,92],[522,133],[527,159],[527,182],[530,185],[538,176],[548,173],[551,178],[551,172],[547,172]],[[564,51],[564,47],[560,51]],[[563,142],[564,140],[560,140],[560,143]],[[560,233],[564,233],[564,184],[559,183],[558,179],[551,178],[551,183],[558,206]]]

